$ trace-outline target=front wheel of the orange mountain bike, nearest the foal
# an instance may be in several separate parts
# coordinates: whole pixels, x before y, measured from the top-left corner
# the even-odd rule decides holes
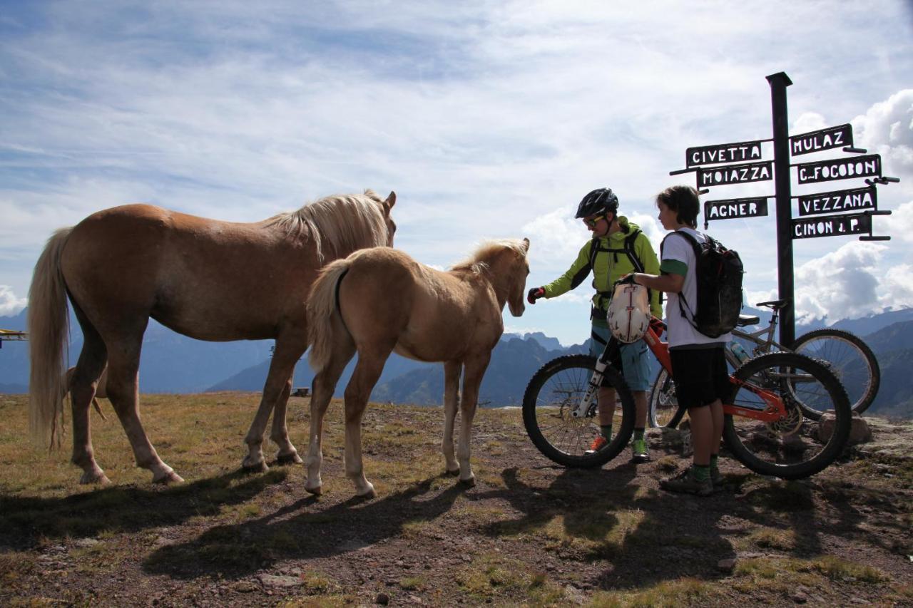
[[[615,407],[612,441],[590,452],[593,439],[600,436],[596,400],[581,417],[571,412],[586,393],[595,366],[596,360],[587,355],[558,357],[533,374],[523,394],[526,432],[539,451],[559,465],[602,466],[618,456],[634,431],[634,396],[622,375],[606,367],[604,381],[615,387],[621,407]]]

